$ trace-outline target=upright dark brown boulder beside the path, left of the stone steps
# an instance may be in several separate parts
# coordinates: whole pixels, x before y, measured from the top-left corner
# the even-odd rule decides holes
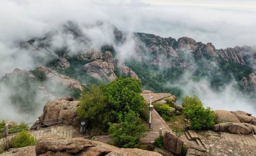
[[[166,131],[164,133],[164,149],[171,151],[174,154],[181,154],[183,141],[175,134]]]

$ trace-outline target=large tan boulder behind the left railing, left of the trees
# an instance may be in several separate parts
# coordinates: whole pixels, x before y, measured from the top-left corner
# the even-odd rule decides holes
[[[47,126],[53,126],[53,124],[50,123],[60,121],[63,121],[62,124],[66,126],[79,126],[81,119],[77,116],[76,113],[76,109],[79,107],[78,103],[79,101],[73,101],[73,98],[71,97],[50,101],[44,105],[44,111],[43,114],[39,117],[39,120],[43,121],[42,124],[44,125],[48,124]],[[59,119],[49,120],[53,118]]]

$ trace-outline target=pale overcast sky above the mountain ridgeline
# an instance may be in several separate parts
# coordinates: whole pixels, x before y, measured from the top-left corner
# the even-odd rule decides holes
[[[1,0],[0,41],[27,39],[66,20],[194,38],[216,48],[255,45],[255,0]]]

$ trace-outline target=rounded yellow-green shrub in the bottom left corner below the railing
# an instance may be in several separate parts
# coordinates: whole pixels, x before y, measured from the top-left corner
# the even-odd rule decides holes
[[[26,131],[20,132],[13,138],[13,147],[26,147],[26,146],[34,146],[36,144],[36,139],[30,133]]]

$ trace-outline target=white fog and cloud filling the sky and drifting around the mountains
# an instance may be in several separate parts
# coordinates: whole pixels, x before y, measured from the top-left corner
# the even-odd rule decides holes
[[[14,68],[31,70],[45,64],[58,57],[54,51],[63,46],[67,47],[69,56],[98,51],[101,46],[110,44],[117,50],[118,59],[136,57],[134,49],[139,41],[131,32],[176,39],[188,36],[203,43],[212,42],[216,48],[255,45],[255,2],[226,2],[197,0],[192,4],[186,0],[1,0],[0,77]],[[64,31],[63,24],[68,24],[67,21],[73,21],[84,36]],[[115,42],[114,26],[126,32],[124,43]],[[21,42],[44,38],[46,35],[51,36],[47,41],[50,47],[37,49],[36,46],[30,46],[21,49]],[[43,59],[35,60],[38,57]],[[255,61],[250,62],[254,67]],[[256,114],[250,104],[252,101],[234,87],[236,81],[231,80],[230,84],[222,88],[222,92],[214,92],[207,78],[194,82],[188,79],[189,74],[183,75],[187,83],[179,85],[185,94],[198,94],[203,103],[213,109],[244,110]],[[170,82],[170,86],[174,84]],[[208,96],[205,96],[206,90]],[[10,99],[6,98],[11,92],[6,86],[0,85],[0,119],[26,120],[28,116],[19,114]],[[40,115],[41,111],[42,107],[31,118]]]

